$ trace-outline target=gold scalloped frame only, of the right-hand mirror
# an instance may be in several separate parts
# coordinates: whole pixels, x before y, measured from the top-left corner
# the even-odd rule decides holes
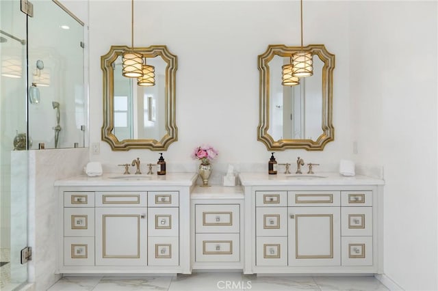
[[[335,128],[333,128],[332,124],[333,69],[335,68],[335,55],[329,53],[324,44],[309,44],[304,47],[305,51],[311,51],[312,55],[318,55],[324,63],[322,68],[322,135],[320,135],[316,141],[311,139],[279,139],[278,141],[275,141],[271,135],[268,134],[270,120],[270,68],[268,63],[272,60],[274,55],[290,57],[292,53],[300,51],[300,49],[300,46],[270,44],[266,52],[258,57],[258,68],[260,71],[260,103],[257,140],[263,142],[268,150],[286,150],[289,148],[323,150],[326,143],[335,139]],[[281,80],[277,81],[280,82]]]

